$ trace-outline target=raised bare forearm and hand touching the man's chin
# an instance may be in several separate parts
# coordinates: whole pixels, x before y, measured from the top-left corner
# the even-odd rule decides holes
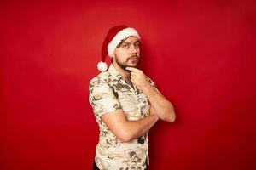
[[[153,106],[153,110],[156,115],[160,117],[163,121],[174,122],[175,112],[172,103],[166,99],[164,96],[160,95],[147,81],[146,76],[143,71],[136,68],[126,67],[127,70],[131,71],[131,82],[134,83],[137,88],[143,91],[148,97],[148,100]]]

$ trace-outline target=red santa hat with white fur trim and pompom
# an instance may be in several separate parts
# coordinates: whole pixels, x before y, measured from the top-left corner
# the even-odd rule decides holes
[[[108,65],[105,62],[107,55],[112,58],[115,48],[126,37],[136,36],[140,39],[137,31],[128,26],[114,26],[108,31],[108,34],[102,45],[102,61],[98,63],[99,71],[107,71]]]

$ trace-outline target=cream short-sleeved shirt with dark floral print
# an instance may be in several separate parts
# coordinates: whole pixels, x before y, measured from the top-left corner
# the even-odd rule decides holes
[[[148,82],[157,90],[149,78]],[[95,157],[97,167],[101,170],[145,169],[148,160],[148,134],[130,142],[122,142],[102,121],[101,116],[112,111],[124,111],[128,120],[142,119],[148,116],[150,109],[146,95],[136,86],[131,87],[110,65],[108,71],[90,81],[89,101],[100,128]]]

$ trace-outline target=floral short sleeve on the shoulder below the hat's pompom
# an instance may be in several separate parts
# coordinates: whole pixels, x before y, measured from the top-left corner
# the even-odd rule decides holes
[[[90,81],[89,101],[96,117],[112,111],[122,111],[122,106],[113,94],[113,89],[108,82],[98,77]]]

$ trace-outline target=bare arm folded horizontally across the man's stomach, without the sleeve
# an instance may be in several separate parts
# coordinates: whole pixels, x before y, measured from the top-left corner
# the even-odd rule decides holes
[[[109,112],[102,115],[101,118],[118,139],[129,142],[148,133],[154,123],[158,121],[158,116],[151,108],[148,116],[137,121],[129,121],[124,111]]]

